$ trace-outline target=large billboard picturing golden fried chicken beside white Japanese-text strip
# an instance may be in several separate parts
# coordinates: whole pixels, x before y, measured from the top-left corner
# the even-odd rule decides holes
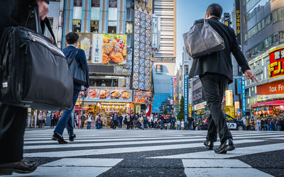
[[[88,64],[126,64],[127,35],[79,33]]]

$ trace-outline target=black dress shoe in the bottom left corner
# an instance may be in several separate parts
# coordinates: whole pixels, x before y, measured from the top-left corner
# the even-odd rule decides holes
[[[38,167],[34,161],[18,161],[13,163],[0,164],[0,175],[11,175],[16,173],[31,173]]]

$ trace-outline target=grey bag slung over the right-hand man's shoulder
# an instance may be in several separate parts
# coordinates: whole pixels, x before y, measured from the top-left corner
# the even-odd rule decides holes
[[[225,49],[223,38],[205,18],[204,23],[193,25],[190,31],[182,36],[185,50],[194,59]]]

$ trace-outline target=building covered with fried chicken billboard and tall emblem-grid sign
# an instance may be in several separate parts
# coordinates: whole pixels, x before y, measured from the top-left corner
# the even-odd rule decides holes
[[[152,1],[65,0],[62,47],[67,45],[65,35],[77,32],[89,66],[90,91],[84,110],[104,118],[148,110],[151,9]],[[82,110],[82,96],[75,110]]]

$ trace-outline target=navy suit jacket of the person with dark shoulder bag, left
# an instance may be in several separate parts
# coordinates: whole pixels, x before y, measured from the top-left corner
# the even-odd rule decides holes
[[[64,53],[65,57],[68,59],[68,61],[71,59],[71,57],[73,56],[73,53],[75,52],[76,47],[74,47],[74,45],[68,45],[65,49],[62,50],[62,52]],[[88,68],[88,64],[87,64],[87,59],[86,59],[86,55],[84,54],[84,50],[82,49],[78,49],[77,55],[76,55],[76,59],[77,61],[79,61],[81,64],[84,64],[86,66],[86,81],[87,84],[85,84],[84,86],[86,88],[89,88],[89,68]],[[80,91],[81,90],[81,86],[79,84],[75,84],[74,83],[74,89]]]

